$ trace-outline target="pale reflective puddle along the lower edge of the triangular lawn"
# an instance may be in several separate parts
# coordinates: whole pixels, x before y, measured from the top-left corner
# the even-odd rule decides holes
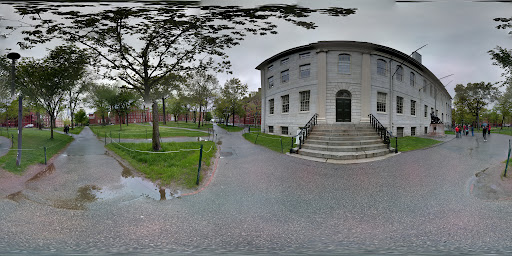
[[[134,195],[151,198],[154,200],[170,200],[181,196],[181,192],[172,191],[171,189],[165,189],[157,186],[152,181],[144,179],[142,177],[136,177],[132,170],[119,162],[119,165],[123,168],[121,172],[121,188],[108,188],[94,190],[94,196],[98,199],[109,199],[121,195]]]

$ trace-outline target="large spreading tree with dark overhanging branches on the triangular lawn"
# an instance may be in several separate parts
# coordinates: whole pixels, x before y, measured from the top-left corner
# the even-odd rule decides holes
[[[169,74],[229,69],[226,50],[238,45],[248,34],[276,34],[277,25],[270,19],[282,19],[314,29],[313,22],[304,20],[312,13],[347,16],[356,11],[295,5],[241,8],[165,2],[150,6],[74,8],[71,11],[32,3],[18,4],[15,8],[18,14],[39,22],[24,28],[26,37],[20,42],[22,47],[33,47],[54,39],[80,43],[94,53],[98,70],[105,70],[105,77],[121,79],[145,102],[152,103],[152,147],[155,151],[161,149],[156,100],[160,96],[158,91],[166,86],[161,80]],[[52,15],[42,18],[48,12]]]

